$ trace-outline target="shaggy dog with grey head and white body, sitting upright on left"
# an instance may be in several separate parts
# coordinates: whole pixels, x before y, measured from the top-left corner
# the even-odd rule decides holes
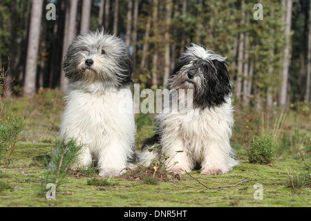
[[[133,160],[134,115],[120,105],[124,99],[133,103],[133,70],[133,57],[113,35],[79,35],[68,47],[64,72],[70,86],[60,137],[85,144],[75,166],[89,166],[95,158],[100,176],[113,177]]]

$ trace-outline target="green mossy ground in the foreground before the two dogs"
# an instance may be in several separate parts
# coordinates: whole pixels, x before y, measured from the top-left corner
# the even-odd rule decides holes
[[[225,175],[205,176],[199,171],[181,180],[144,184],[141,180],[117,180],[117,186],[90,186],[94,176],[68,175],[56,193],[46,200],[41,184],[44,166],[35,157],[46,155],[53,145],[19,142],[7,167],[0,168],[0,182],[12,189],[1,189],[0,206],[310,206],[310,188],[294,191],[287,187],[288,172],[301,168],[299,158],[277,158],[273,164],[240,164]],[[263,200],[255,200],[254,184],[263,185]]]

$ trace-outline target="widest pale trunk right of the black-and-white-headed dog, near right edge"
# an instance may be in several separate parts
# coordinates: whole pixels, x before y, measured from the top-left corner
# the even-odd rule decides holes
[[[287,108],[288,101],[288,78],[289,78],[289,68],[290,68],[290,28],[292,24],[292,0],[283,0],[283,4],[286,7],[286,15],[285,15],[285,38],[286,44],[283,52],[283,70],[281,73],[282,84],[280,91],[280,106]]]

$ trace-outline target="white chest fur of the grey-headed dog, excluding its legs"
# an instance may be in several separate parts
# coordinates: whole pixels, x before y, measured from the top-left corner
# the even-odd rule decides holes
[[[123,89],[124,92],[131,96],[130,89]],[[92,152],[117,137],[128,136],[129,143],[133,143],[133,113],[122,109],[124,94],[120,95],[120,90],[86,93],[73,89],[65,99],[61,136],[78,137]]]

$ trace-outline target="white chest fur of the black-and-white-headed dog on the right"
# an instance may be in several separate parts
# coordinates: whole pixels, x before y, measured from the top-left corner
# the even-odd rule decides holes
[[[192,113],[187,113],[191,116],[188,118],[178,113],[160,115],[162,146],[171,146],[169,143],[173,139],[170,136],[175,134],[182,139],[184,151],[200,161],[202,151],[205,151],[210,142],[221,144],[232,136],[234,120],[229,99],[227,102],[216,108],[194,108]]]

